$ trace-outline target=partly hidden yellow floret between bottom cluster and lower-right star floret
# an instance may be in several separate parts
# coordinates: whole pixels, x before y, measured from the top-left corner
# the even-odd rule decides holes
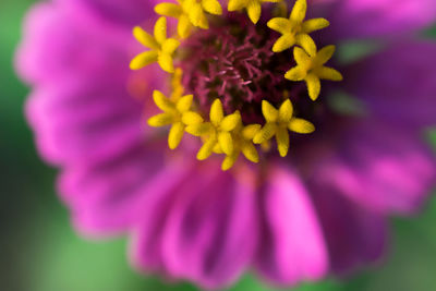
[[[261,128],[261,124],[250,124],[243,126],[242,123],[240,123],[240,125],[234,129],[232,132],[233,153],[231,155],[227,155],[223,159],[221,163],[221,169],[223,171],[227,171],[233,167],[241,153],[247,160],[258,162],[258,153],[253,144],[253,138]]]

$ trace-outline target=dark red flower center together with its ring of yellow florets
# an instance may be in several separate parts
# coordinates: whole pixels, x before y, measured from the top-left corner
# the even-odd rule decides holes
[[[218,0],[164,2],[155,7],[162,17],[156,22],[154,35],[141,27],[133,29],[149,50],[136,56],[131,69],[158,62],[172,74],[171,96],[154,92],[162,112],[148,120],[150,126],[171,125],[171,149],[184,133],[198,136],[203,145],[197,159],[225,155],[221,168],[228,170],[240,154],[258,162],[256,145],[266,148],[271,141],[284,157],[290,132],[315,130],[300,113],[315,108],[307,104],[318,98],[320,80],[342,80],[338,71],[325,66],[335,46],[318,50],[310,36],[329,23],[325,19],[306,21],[306,0],[296,0],[289,16],[282,9],[286,3],[280,2],[278,8],[287,17],[259,21],[261,13],[270,12],[262,11],[264,2],[280,1],[230,0],[229,13],[222,12]],[[244,10],[246,15],[241,13]],[[178,20],[178,37],[167,37],[165,16]]]

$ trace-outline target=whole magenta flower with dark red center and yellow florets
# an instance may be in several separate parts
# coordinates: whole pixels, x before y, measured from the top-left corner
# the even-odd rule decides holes
[[[207,11],[206,2],[197,9]],[[329,53],[313,53],[311,40],[274,52],[274,4],[263,3],[256,25],[257,8],[252,20],[242,11],[210,16],[208,29],[191,23],[180,54],[169,53],[172,80],[167,65],[129,70],[142,51],[132,28],[153,27],[154,1],[35,5],[16,65],[33,87],[26,116],[38,150],[61,169],[59,193],[77,230],[128,233],[137,268],[205,288],[229,286],[247,268],[291,286],[379,258],[387,217],[416,211],[436,181],[434,151],[422,140],[436,123],[436,44],[416,37],[436,20],[436,3],[308,3],[330,26],[304,33]],[[337,72],[322,65],[330,45],[365,38],[380,46],[350,62],[334,57]],[[315,61],[322,52],[328,58]],[[342,82],[318,86],[339,72]],[[169,98],[153,100],[154,90]],[[165,122],[152,118],[162,113]],[[171,124],[168,142],[178,148],[146,120]],[[286,156],[284,129],[312,125],[289,136]],[[208,159],[195,159],[201,141],[186,131],[201,135]]]

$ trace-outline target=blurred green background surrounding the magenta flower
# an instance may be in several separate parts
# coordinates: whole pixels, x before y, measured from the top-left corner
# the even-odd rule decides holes
[[[33,2],[0,2],[0,290],[197,290],[135,274],[128,266],[124,239],[92,242],[72,230],[53,190],[56,171],[39,160],[23,118],[28,88],[12,68],[21,23]],[[293,290],[436,290],[435,222],[433,198],[420,216],[391,220],[391,247],[383,264],[347,280],[330,278]],[[246,276],[231,290],[272,289]]]

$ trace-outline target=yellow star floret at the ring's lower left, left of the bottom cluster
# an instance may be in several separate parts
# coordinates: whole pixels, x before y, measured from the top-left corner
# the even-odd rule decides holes
[[[179,146],[186,124],[203,122],[203,118],[198,113],[190,111],[193,100],[192,95],[186,95],[180,97],[177,101],[172,101],[159,90],[155,90],[153,93],[153,99],[157,107],[164,112],[149,118],[148,125],[160,128],[171,124],[171,130],[168,135],[168,146],[171,149]]]

